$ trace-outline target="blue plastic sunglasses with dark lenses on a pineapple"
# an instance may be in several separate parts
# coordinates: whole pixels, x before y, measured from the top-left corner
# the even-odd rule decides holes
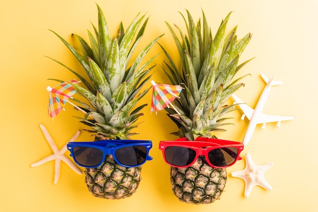
[[[69,142],[67,147],[75,163],[86,168],[102,165],[106,155],[112,155],[115,161],[124,167],[140,166],[147,160],[152,160],[148,155],[152,148],[151,140]]]

